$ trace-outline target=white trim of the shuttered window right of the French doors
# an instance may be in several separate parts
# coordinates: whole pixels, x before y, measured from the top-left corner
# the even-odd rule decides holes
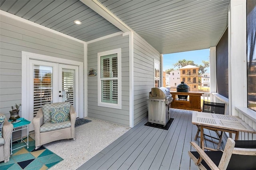
[[[114,103],[106,103],[102,102],[102,84],[101,84],[101,67],[100,67],[100,58],[101,56],[107,56],[110,54],[117,54],[117,70],[118,70],[118,76],[117,76],[117,84],[118,84],[118,100],[117,104]],[[116,108],[116,109],[122,109],[122,67],[121,67],[121,48],[104,51],[104,52],[98,52],[98,106],[107,107],[107,108]]]

